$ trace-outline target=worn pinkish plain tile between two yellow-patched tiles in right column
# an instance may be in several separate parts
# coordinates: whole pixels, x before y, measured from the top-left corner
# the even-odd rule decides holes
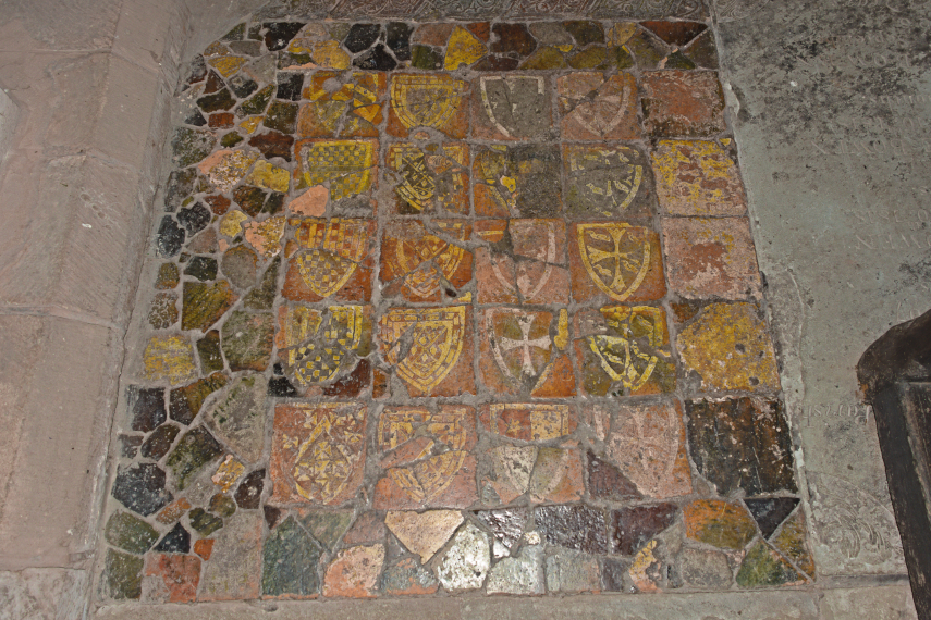
[[[760,299],[750,223],[745,218],[663,220],[670,288],[686,299]]]

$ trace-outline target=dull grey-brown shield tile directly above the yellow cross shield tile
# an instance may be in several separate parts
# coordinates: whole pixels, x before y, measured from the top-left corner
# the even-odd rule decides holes
[[[563,145],[566,214],[573,219],[651,218],[653,174],[635,145]]]

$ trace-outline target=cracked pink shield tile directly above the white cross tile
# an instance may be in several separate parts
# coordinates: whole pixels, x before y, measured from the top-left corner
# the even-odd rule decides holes
[[[568,303],[562,220],[478,220],[475,237],[479,303]]]

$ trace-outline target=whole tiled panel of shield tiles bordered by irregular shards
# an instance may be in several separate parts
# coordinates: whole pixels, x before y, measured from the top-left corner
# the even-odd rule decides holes
[[[703,22],[245,22],[181,85],[105,599],[814,579]]]

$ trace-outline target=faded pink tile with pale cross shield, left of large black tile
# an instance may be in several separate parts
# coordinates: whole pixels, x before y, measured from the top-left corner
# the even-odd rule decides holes
[[[596,406],[590,409],[592,417],[600,419],[596,421],[597,425],[605,430],[604,461],[616,467],[624,479],[636,485],[637,492],[662,499],[691,493],[691,473],[678,401]],[[590,462],[589,484],[592,483],[591,475]]]

